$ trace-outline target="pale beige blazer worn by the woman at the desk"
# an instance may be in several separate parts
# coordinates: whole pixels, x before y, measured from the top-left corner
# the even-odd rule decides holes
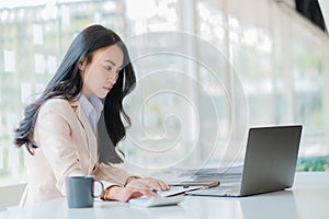
[[[39,110],[34,129],[38,146],[29,155],[29,184],[21,205],[65,196],[65,177],[94,175],[124,185],[128,173],[98,163],[98,141],[80,103],[48,100]]]

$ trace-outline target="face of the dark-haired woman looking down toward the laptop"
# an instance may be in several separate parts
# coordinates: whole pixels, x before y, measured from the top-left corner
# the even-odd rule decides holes
[[[92,53],[91,62],[87,58],[79,65],[86,97],[94,94],[104,99],[115,84],[123,68],[124,55],[117,45],[100,48]]]

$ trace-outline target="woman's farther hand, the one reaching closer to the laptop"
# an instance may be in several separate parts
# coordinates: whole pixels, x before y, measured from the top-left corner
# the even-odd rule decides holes
[[[138,189],[169,191],[169,185],[167,183],[152,177],[129,177],[125,187]]]

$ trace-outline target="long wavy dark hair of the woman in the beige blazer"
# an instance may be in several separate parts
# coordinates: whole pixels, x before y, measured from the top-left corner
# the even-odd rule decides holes
[[[123,108],[123,99],[135,88],[136,77],[129,60],[128,51],[122,39],[111,30],[101,25],[91,25],[80,32],[73,39],[65,55],[54,78],[47,84],[45,91],[34,103],[25,108],[24,118],[14,130],[14,145],[25,146],[31,154],[37,148],[33,141],[34,125],[39,107],[52,97],[61,97],[67,101],[76,101],[82,90],[82,79],[79,72],[79,62],[87,58],[87,64],[92,59],[92,51],[102,47],[117,45],[124,54],[124,68],[118,73],[118,79],[104,100],[104,119],[107,134],[116,146],[126,135],[126,125],[131,126],[131,119]]]

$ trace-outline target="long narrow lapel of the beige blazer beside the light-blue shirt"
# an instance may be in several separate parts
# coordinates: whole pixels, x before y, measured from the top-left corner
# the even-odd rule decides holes
[[[95,163],[98,163],[97,136],[93,132],[91,125],[90,125],[84,112],[82,111],[79,101],[71,103],[71,106],[76,108],[75,112],[80,122],[80,131],[81,131],[81,136],[83,138],[84,148],[87,149],[87,152],[89,153],[91,163],[95,164]]]

